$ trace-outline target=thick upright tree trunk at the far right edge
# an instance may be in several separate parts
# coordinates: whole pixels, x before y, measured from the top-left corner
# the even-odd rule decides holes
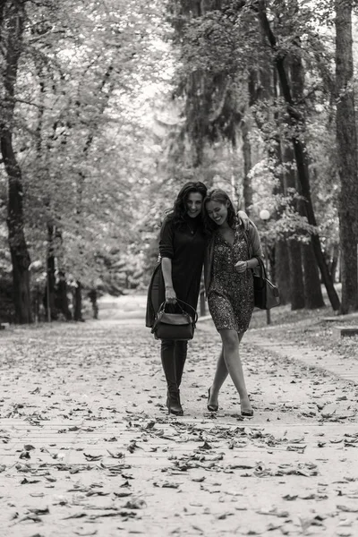
[[[341,313],[358,310],[358,178],[354,112],[352,0],[336,0],[337,161],[341,183]]]

